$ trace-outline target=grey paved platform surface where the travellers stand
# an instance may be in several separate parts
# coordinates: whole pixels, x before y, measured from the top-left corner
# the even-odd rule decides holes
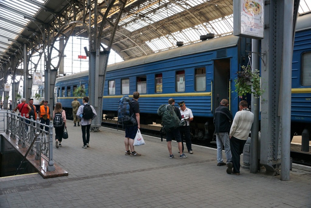
[[[310,167],[294,165],[290,181],[246,169],[229,175],[216,166],[216,149],[193,146],[187,158],[170,159],[165,141],[144,136],[135,148],[142,156],[132,157],[122,130],[101,128],[83,149],[81,128],[67,126],[69,138],[53,151],[69,175],[0,178],[0,207],[311,207]]]

